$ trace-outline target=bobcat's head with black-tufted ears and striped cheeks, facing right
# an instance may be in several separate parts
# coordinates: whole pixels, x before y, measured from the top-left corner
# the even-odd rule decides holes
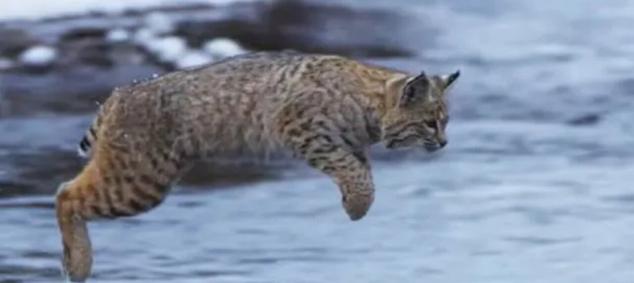
[[[398,103],[382,122],[385,147],[422,147],[429,152],[443,148],[449,121],[446,93],[459,76],[460,72],[432,77],[422,73],[404,82]]]

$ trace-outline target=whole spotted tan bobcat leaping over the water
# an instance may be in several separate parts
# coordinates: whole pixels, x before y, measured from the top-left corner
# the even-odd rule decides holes
[[[86,166],[56,195],[65,275],[91,272],[87,221],[149,211],[207,157],[288,150],[333,179],[351,220],[363,218],[374,201],[365,148],[443,148],[459,75],[259,52],[115,89],[79,145]]]

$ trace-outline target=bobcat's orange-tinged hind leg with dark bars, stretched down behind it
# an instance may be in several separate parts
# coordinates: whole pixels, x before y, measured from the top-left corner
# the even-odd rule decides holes
[[[134,216],[165,199],[183,171],[173,152],[96,150],[73,180],[63,183],[55,201],[63,244],[63,268],[73,282],[84,282],[93,263],[87,221]]]

